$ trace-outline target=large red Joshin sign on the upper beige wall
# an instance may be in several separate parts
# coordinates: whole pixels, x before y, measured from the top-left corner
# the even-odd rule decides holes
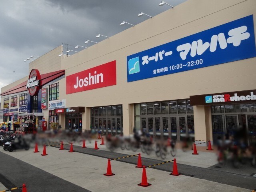
[[[66,94],[116,85],[116,61],[66,77]]]

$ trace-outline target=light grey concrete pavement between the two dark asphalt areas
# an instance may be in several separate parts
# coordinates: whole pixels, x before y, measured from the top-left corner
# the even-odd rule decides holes
[[[42,148],[39,148],[42,151]],[[67,150],[47,147],[48,156],[41,153],[33,153],[32,150],[19,150],[16,152],[1,152],[8,154],[10,158],[27,162],[31,166],[40,168],[54,176],[62,178],[72,184],[81,186],[92,192],[111,190],[120,191],[180,191],[190,192],[248,192],[248,189],[220,184],[190,176],[170,176],[170,172],[147,168],[148,182],[152,184],[148,188],[138,186],[142,179],[142,169],[135,168],[133,164],[111,161],[112,172],[115,176],[106,177],[106,158],[82,154],[78,152],[68,153]],[[0,152],[0,153],[1,153]],[[29,169],[27,170],[30,171]],[[15,175],[13,175],[15,176]],[[26,180],[26,177],[24,177]],[[45,183],[47,185],[47,183]]]

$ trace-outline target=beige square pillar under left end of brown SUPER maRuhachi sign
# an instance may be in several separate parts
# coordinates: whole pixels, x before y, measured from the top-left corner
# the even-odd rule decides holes
[[[210,106],[194,106],[195,140],[212,141],[212,116]],[[206,144],[200,144],[206,146]]]

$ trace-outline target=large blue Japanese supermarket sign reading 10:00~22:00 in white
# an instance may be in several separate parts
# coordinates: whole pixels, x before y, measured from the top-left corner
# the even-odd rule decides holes
[[[256,57],[253,16],[127,56],[127,81]]]

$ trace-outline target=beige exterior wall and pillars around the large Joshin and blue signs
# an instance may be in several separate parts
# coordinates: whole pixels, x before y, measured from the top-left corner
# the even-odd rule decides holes
[[[71,75],[116,60],[117,84],[65,95],[66,106],[123,105],[124,133],[134,125],[134,103],[189,98],[190,95],[250,90],[256,87],[256,58],[127,82],[126,57],[134,53],[254,14],[255,0],[188,0],[68,58],[61,68]],[[254,19],[254,27],[256,26]],[[255,30],[255,29],[254,29]],[[63,80],[64,81],[64,80]],[[66,83],[60,84],[64,97]],[[209,107],[194,107],[196,140],[212,138]],[[90,114],[85,115],[90,127]],[[84,118],[84,117],[83,117]],[[207,118],[207,119],[206,119]],[[84,122],[84,121],[83,121]]]

